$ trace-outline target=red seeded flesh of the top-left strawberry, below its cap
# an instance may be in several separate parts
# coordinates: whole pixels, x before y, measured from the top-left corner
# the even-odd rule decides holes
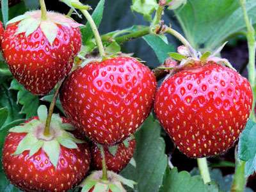
[[[31,93],[44,95],[70,72],[74,56],[81,48],[80,30],[57,24],[56,38],[50,44],[40,27],[29,36],[16,34],[19,24],[9,24],[4,32],[4,59],[19,83]]]

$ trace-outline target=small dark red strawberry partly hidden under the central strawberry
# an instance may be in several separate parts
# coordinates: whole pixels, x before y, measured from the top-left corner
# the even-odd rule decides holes
[[[128,142],[128,146],[125,146],[124,143],[118,144],[118,146],[116,146],[117,150],[115,154],[109,152],[109,148],[104,146],[104,153],[108,170],[118,173],[123,170],[125,166],[127,166],[133,156],[136,147],[135,139]],[[100,154],[100,149],[97,147],[97,145],[93,144],[91,147],[91,152],[93,166],[96,168],[96,170],[102,170],[102,157]]]

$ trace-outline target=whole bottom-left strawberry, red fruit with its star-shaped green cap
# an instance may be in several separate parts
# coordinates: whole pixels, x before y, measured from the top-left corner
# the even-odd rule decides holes
[[[70,124],[54,114],[50,136],[44,136],[45,109],[10,129],[3,147],[3,168],[22,191],[67,191],[84,179],[90,166],[90,148],[77,140]]]

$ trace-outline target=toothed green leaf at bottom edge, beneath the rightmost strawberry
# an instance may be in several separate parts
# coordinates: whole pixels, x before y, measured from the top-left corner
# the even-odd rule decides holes
[[[160,192],[218,192],[213,184],[204,184],[202,178],[197,175],[191,177],[188,172],[178,172],[177,168],[166,170],[163,186]]]

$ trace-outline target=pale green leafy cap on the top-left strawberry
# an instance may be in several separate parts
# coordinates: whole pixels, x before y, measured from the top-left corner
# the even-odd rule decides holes
[[[51,45],[57,36],[58,25],[67,26],[69,28],[83,26],[60,13],[47,12],[46,20],[42,20],[41,14],[40,10],[26,12],[24,15],[19,15],[18,17],[9,20],[7,25],[19,22],[15,35],[25,33],[27,37],[36,31],[36,29],[40,28]]]

